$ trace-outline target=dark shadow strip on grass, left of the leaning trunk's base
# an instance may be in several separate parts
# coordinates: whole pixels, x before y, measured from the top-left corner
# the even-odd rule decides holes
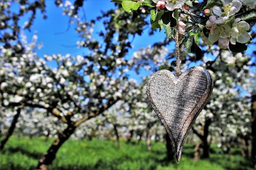
[[[16,152],[20,152],[23,155],[27,155],[28,157],[39,159],[43,154],[36,152],[36,151],[28,151],[22,147],[8,147],[2,151],[3,154],[6,154],[7,152],[14,154]]]

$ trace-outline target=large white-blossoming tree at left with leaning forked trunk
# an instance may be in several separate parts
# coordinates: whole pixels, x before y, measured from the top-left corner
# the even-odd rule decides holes
[[[45,169],[78,126],[104,113],[134,88],[127,79],[130,65],[124,57],[131,48],[130,37],[141,35],[144,25],[148,24],[148,12],[140,10],[128,14],[117,8],[103,13],[98,21],[85,22],[77,12],[82,1],[74,4],[56,1],[57,6],[64,8],[64,14],[69,15],[71,23],[76,23],[76,31],[82,38],[77,45],[89,52],[84,56],[53,54],[42,58],[35,53],[36,36],[27,44],[20,31],[32,27],[37,8],[44,14],[44,1],[18,2],[18,14],[10,10],[13,3],[0,3],[1,17],[5,18],[1,23],[4,33],[0,55],[4,64],[0,75],[0,101],[5,108],[44,109],[65,124],[65,129],[59,131],[39,160],[37,168]],[[32,11],[31,18],[22,28],[19,18],[28,11]],[[97,22],[104,22],[104,29],[99,32],[101,40],[92,37],[93,25]],[[57,66],[51,68],[46,61],[56,62]]]

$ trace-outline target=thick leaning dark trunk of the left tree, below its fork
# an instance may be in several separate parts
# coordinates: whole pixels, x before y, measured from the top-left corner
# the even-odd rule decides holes
[[[46,154],[44,154],[43,157],[39,159],[38,166],[36,167],[36,169],[48,169],[48,166],[51,165],[53,160],[55,159],[59,148],[74,133],[75,129],[75,126],[68,125],[67,129],[65,129],[63,133],[59,133],[57,135],[55,141],[49,147]]]

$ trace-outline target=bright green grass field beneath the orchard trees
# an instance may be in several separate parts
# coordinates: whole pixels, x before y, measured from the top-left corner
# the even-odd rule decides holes
[[[0,152],[0,169],[33,169],[53,139],[11,137]],[[238,150],[232,155],[217,154],[212,148],[210,159],[193,162],[193,146],[185,145],[179,163],[166,162],[166,147],[152,143],[148,151],[144,143],[127,145],[121,142],[69,139],[57,153],[51,169],[250,169],[250,160],[243,159]]]

